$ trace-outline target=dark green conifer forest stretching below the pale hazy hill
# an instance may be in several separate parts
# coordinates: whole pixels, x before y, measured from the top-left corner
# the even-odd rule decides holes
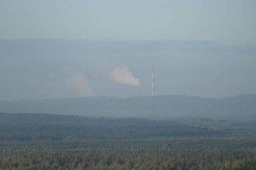
[[[0,113],[0,169],[255,169],[255,122]]]

